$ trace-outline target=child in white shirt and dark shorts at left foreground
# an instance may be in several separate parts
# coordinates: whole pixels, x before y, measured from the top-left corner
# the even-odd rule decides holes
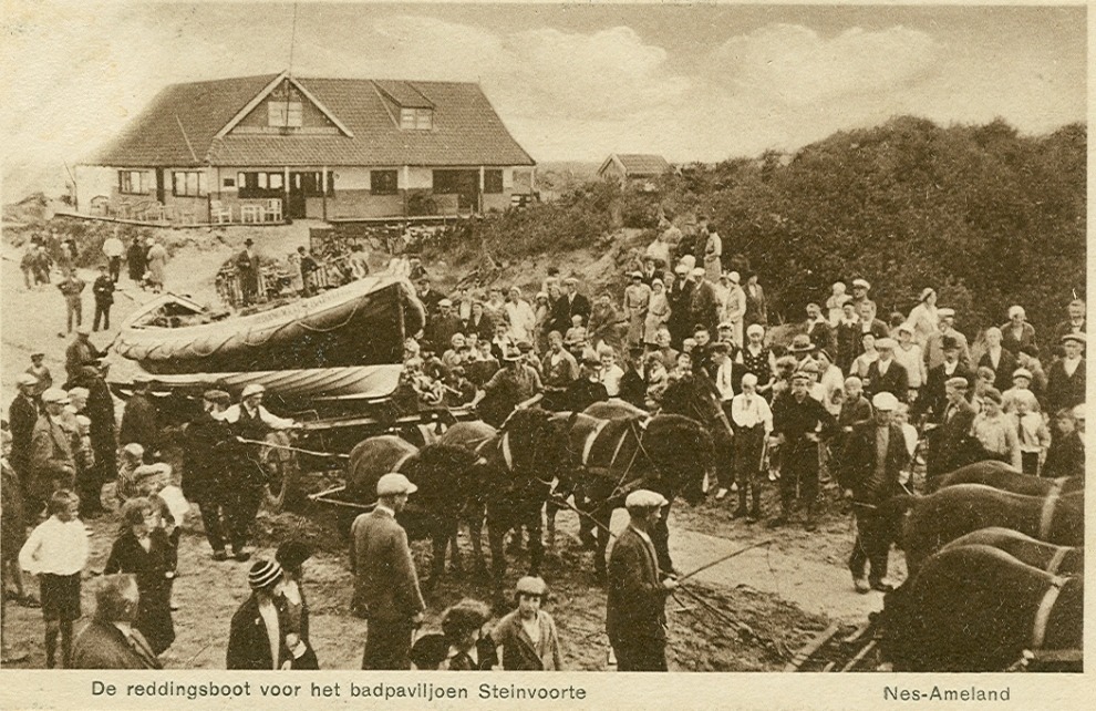
[[[39,576],[39,597],[45,619],[45,666],[56,667],[58,632],[61,660],[72,663],[72,622],[80,619],[80,574],[87,564],[87,529],[76,517],[80,498],[62,488],[50,497],[50,517],[31,532],[19,565]]]

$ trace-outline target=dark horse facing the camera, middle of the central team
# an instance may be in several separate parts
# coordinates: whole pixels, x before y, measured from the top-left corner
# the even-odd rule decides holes
[[[441,437],[442,444],[464,447],[476,456],[476,496],[487,514],[496,592],[502,591],[506,576],[507,532],[521,527],[529,532],[530,575],[538,575],[544,563],[540,512],[556,466],[545,456],[554,431],[551,418],[552,413],[540,408],[516,410],[497,431],[482,422],[462,422]]]

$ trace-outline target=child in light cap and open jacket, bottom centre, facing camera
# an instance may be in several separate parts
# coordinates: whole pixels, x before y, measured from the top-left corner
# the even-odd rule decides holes
[[[510,671],[559,671],[559,635],[551,615],[541,609],[548,586],[541,578],[526,576],[514,589],[517,609],[492,630],[496,657]]]

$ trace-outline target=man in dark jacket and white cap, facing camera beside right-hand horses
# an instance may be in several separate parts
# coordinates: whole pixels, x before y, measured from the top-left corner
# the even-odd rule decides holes
[[[877,515],[878,506],[903,492],[900,475],[909,465],[909,451],[902,429],[891,422],[898,398],[880,392],[871,399],[875,418],[852,426],[845,441],[838,466],[838,481],[852,499],[856,542],[849,569],[857,592],[887,591],[887,558],[890,555],[889,522]],[[870,566],[865,578],[865,565]]]

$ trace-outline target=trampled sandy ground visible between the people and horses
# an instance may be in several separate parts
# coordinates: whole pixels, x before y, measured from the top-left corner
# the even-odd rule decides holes
[[[232,228],[196,231],[178,237],[190,245],[176,250],[167,266],[170,290],[193,295],[198,300],[213,301],[213,276],[216,269],[242,240],[254,234],[260,251],[282,256],[299,244],[307,243],[308,224],[263,229]],[[175,235],[167,235],[176,238]],[[2,311],[0,311],[0,367],[2,367],[2,401],[7,405],[14,395],[14,377],[29,363],[32,350],[46,353],[46,364],[55,382],[64,380],[64,348],[68,338],[59,338],[64,327],[64,303],[53,287],[27,291],[18,268],[21,251],[7,241],[2,261]],[[91,282],[93,275],[82,272]],[[153,298],[130,284],[123,275],[121,293],[115,299],[112,324],[116,326],[136,306]],[[91,293],[85,296],[84,317],[90,319]],[[103,347],[116,331],[93,334]],[[773,492],[767,492],[768,498]],[[774,502],[768,501],[768,511]],[[852,591],[845,560],[851,546],[849,518],[831,506],[815,533],[800,527],[769,530],[762,524],[747,526],[732,519],[733,504],[710,502],[691,508],[675,504],[671,517],[672,549],[680,570],[689,571],[740,547],[772,539],[765,546],[746,552],[715,566],[693,579],[693,589],[710,604],[736,620],[728,629],[726,617],[714,614],[695,599],[679,596],[671,599],[670,657],[675,668],[715,670],[773,670],[783,668],[790,653],[829,620],[860,622],[869,611],[882,605],[878,592],[859,596]],[[360,664],[365,624],[349,614],[351,578],[347,570],[344,544],[337,532],[316,523],[317,517],[298,517],[282,513],[262,514],[258,555],[272,555],[277,543],[292,530],[303,532],[320,548],[309,563],[307,583],[312,605],[312,637],[324,668],[356,668]],[[623,526],[622,512],[613,519],[613,528]],[[568,668],[604,669],[607,646],[603,629],[604,594],[593,585],[590,554],[573,543],[577,528],[571,514],[560,514],[557,550],[549,555],[545,575],[554,588],[551,609],[557,616],[565,641]],[[92,559],[90,570],[99,570],[105,561],[116,524],[110,518],[91,522]],[[164,655],[166,667],[223,668],[228,622],[235,608],[247,595],[246,570],[249,564],[215,563],[199,532],[196,514],[192,514],[179,554],[179,577],[175,599],[180,610],[175,615],[177,639]],[[425,546],[416,544],[420,556]],[[892,556],[891,575],[903,577],[901,555]],[[520,561],[511,565],[511,578],[520,573]],[[423,569],[422,567],[420,569]],[[32,589],[37,586],[32,586]],[[92,609],[90,589],[85,585],[84,610]],[[447,576],[432,597],[432,624],[448,604],[462,596],[489,598],[489,590],[478,580]],[[42,622],[39,610],[9,606],[7,637],[12,647],[31,652],[27,666],[44,666],[41,649]]]

